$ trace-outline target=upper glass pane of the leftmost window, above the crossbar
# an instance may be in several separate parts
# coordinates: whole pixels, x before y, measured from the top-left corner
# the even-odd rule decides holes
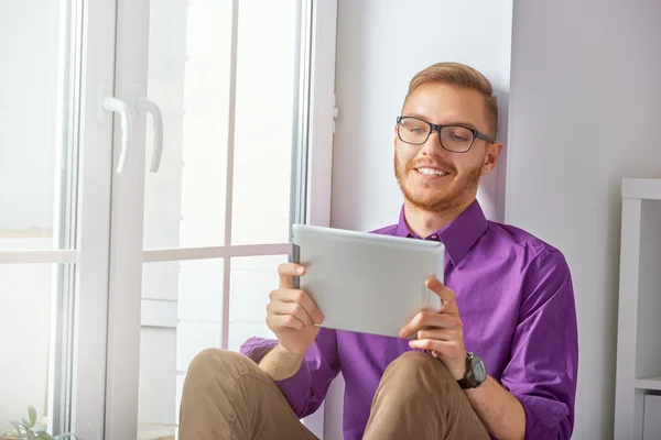
[[[73,245],[57,243],[55,230],[75,155],[62,134],[71,59],[61,10],[67,7],[65,0],[0,2],[0,55],[11,66],[0,69],[0,239],[15,250]]]

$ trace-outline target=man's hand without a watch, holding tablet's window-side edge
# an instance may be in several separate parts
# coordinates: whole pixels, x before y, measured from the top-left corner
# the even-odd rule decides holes
[[[267,324],[283,349],[302,358],[319,332],[316,324],[324,321],[324,316],[306,292],[293,288],[293,277],[304,275],[305,267],[284,263],[278,274],[280,287],[270,294]]]

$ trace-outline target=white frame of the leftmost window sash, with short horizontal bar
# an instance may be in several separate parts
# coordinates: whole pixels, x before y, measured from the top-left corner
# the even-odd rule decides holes
[[[105,424],[112,118],[97,121],[95,90],[115,81],[115,15],[113,2],[69,0],[58,11],[57,84],[66,89],[57,91],[56,142],[59,152],[78,145],[77,228],[72,231],[77,246],[58,245],[63,168],[56,162],[53,250],[0,251],[0,264],[75,264],[74,296],[66,305],[53,287],[47,428],[80,438],[102,437]]]

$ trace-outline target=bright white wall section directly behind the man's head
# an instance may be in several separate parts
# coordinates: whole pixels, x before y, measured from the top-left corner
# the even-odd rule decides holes
[[[332,226],[371,230],[398,221],[402,196],[393,175],[393,125],[412,76],[442,61],[487,75],[501,98],[507,142],[511,0],[339,0]],[[478,198],[503,217],[505,156]],[[342,438],[342,380],[327,398],[325,439]]]

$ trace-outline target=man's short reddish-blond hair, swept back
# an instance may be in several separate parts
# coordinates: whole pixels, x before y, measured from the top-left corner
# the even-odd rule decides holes
[[[475,90],[485,97],[487,113],[490,117],[490,130],[494,139],[498,135],[498,98],[494,96],[491,82],[477,69],[459,63],[436,63],[415,74],[404,103],[411,94],[425,84],[448,84]]]

